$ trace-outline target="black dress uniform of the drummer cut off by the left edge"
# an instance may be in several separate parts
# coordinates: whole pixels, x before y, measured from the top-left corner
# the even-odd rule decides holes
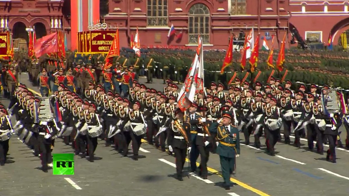
[[[6,109],[0,110],[2,113],[5,113],[5,116],[0,117],[0,135],[6,133],[7,131],[12,131],[13,128],[9,117],[7,116]],[[6,162],[6,155],[9,149],[8,145],[9,139],[5,141],[0,141],[0,165],[4,165]]]

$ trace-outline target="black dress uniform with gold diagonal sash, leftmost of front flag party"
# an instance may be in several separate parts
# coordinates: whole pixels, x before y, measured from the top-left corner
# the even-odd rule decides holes
[[[178,110],[176,113],[179,112]],[[187,156],[187,148],[191,147],[190,125],[179,119],[173,120],[168,136],[168,145],[176,157],[177,179],[182,181],[182,170]]]

